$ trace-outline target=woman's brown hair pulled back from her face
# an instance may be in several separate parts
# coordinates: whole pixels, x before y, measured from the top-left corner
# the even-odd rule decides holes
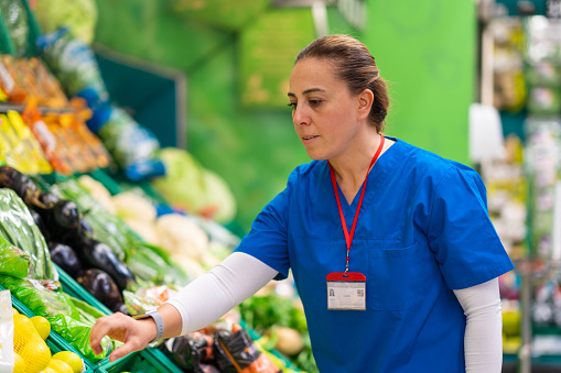
[[[373,55],[363,43],[347,35],[323,36],[300,51],[294,65],[304,58],[326,58],[334,62],[338,77],[346,81],[353,95],[370,89],[374,102],[368,119],[376,130],[381,132],[389,108],[388,87],[380,77]]]

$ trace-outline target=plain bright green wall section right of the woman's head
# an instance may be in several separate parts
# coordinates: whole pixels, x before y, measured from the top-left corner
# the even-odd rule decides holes
[[[386,133],[468,163],[476,8],[472,0],[368,2],[363,41],[389,80]]]

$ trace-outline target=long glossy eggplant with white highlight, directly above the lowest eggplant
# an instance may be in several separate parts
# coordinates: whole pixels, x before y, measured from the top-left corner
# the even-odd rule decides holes
[[[129,267],[119,261],[111,249],[103,242],[83,237],[80,243],[74,246],[78,256],[94,268],[107,272],[120,290],[136,290],[138,287]]]

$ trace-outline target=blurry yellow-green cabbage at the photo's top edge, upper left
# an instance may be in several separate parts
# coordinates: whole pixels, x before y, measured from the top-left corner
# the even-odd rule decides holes
[[[36,2],[35,14],[44,33],[65,26],[84,43],[94,41],[97,22],[94,0],[41,0]]]

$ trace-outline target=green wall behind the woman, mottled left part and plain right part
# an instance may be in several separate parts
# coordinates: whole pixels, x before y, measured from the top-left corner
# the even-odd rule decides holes
[[[330,29],[359,36],[390,80],[387,133],[466,162],[474,2],[367,1],[364,34],[353,32],[334,9],[328,10]],[[289,173],[309,158],[293,134],[290,109],[239,105],[237,33],[187,21],[165,3],[97,0],[96,43],[185,72],[188,150],[230,185],[239,205],[236,223],[248,231]]]

